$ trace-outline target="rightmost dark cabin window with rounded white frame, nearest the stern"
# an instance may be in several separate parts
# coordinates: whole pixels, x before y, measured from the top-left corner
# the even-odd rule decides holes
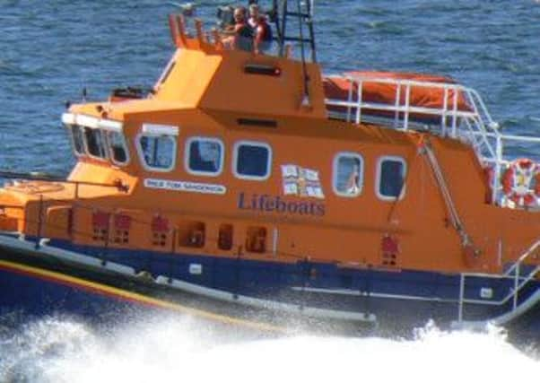
[[[405,196],[406,162],[401,157],[382,157],[377,171],[377,196],[395,201]]]

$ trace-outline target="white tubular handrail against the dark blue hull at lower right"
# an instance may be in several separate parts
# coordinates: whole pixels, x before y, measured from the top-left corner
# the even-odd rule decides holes
[[[459,280],[459,300],[458,300],[458,309],[457,309],[457,321],[463,321],[463,309],[465,303],[475,303],[483,305],[501,305],[506,303],[508,300],[513,299],[512,301],[512,310],[514,312],[518,309],[518,294],[519,292],[529,283],[536,274],[540,273],[540,265],[537,265],[531,272],[525,275],[521,275],[521,265],[530,257],[536,249],[540,248],[540,239],[537,240],[533,245],[531,245],[527,250],[518,257],[518,260],[510,266],[510,268],[504,274],[483,274],[483,273],[461,273]],[[498,301],[485,301],[485,300],[472,300],[465,298],[465,288],[466,288],[466,278],[467,277],[477,277],[477,278],[495,278],[495,279],[513,279],[514,288],[510,290],[508,295],[503,297]]]

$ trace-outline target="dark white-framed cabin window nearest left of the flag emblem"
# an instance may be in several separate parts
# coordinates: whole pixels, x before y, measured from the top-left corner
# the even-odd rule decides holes
[[[272,151],[263,143],[242,141],[234,148],[232,169],[237,178],[266,179],[270,177]]]

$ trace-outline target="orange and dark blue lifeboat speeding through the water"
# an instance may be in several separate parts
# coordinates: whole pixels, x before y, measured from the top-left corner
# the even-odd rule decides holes
[[[274,3],[278,55],[171,16],[177,49],[152,91],[63,115],[77,157],[68,178],[3,174],[14,180],[0,190],[0,283],[25,274],[39,289],[53,270],[79,275],[74,288],[142,283],[144,296],[230,302],[233,315],[533,316],[537,331],[540,167],[509,160],[504,144],[540,139],[502,135],[479,94],[451,79],[325,76],[303,51],[316,58],[312,28],[285,33],[289,13],[312,22],[309,2]]]

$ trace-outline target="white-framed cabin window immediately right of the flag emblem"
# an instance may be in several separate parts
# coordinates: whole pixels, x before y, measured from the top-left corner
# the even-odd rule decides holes
[[[338,196],[359,196],[363,185],[363,159],[360,154],[340,152],[334,159],[334,192]]]

